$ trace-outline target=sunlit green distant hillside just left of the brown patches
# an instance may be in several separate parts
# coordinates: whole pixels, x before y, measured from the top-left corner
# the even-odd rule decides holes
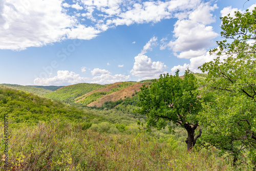
[[[52,93],[44,95],[44,97],[60,100],[65,102],[73,102],[74,99],[91,91],[106,87],[106,85],[96,83],[78,83],[71,86],[62,87]]]

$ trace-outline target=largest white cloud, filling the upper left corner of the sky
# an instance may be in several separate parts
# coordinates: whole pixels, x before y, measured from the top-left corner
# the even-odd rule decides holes
[[[24,50],[41,47],[67,38],[91,39],[100,31],[79,25],[75,15],[68,15],[62,0],[1,1],[0,49]],[[54,17],[53,17],[54,16]]]

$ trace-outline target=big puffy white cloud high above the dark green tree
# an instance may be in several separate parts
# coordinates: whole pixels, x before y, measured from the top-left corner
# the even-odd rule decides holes
[[[214,45],[212,41],[218,36],[211,26],[206,26],[215,22],[215,17],[211,11],[217,9],[217,5],[208,6],[201,4],[194,11],[190,12],[187,19],[178,20],[174,28],[176,40],[170,41],[168,46],[179,58],[190,58],[202,55],[205,49]],[[165,48],[162,45],[162,49]],[[161,47],[160,47],[161,48]],[[177,54],[180,52],[180,54]]]

